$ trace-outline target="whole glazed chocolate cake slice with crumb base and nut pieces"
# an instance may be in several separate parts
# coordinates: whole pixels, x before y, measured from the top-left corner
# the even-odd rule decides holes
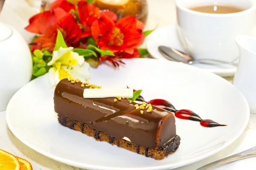
[[[171,112],[121,97],[84,98],[85,88],[99,86],[71,79],[56,86],[54,108],[61,125],[157,160],[179,147]]]

